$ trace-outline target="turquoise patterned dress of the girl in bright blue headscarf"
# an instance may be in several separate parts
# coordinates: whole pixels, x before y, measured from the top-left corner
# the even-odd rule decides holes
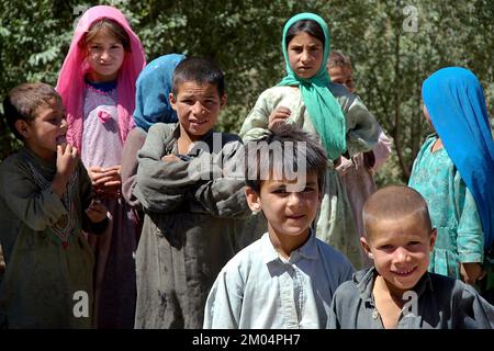
[[[482,262],[484,235],[475,201],[445,148],[426,139],[414,162],[408,185],[426,200],[437,239],[429,271],[460,279],[459,264]]]

